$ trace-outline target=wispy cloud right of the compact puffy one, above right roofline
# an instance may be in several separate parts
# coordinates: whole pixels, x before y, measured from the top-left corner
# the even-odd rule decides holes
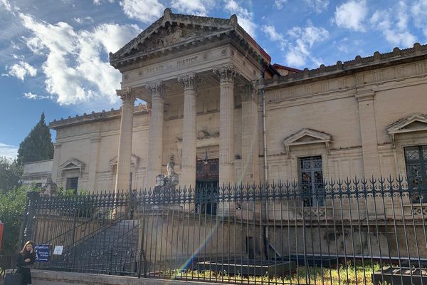
[[[416,36],[409,31],[408,21],[408,7],[403,1],[388,11],[375,11],[371,16],[372,26],[383,33],[386,41],[405,48],[416,42]]]

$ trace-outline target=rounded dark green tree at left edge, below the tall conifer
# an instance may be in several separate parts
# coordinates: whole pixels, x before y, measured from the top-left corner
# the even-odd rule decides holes
[[[3,192],[21,185],[22,167],[16,160],[0,157],[0,190]]]

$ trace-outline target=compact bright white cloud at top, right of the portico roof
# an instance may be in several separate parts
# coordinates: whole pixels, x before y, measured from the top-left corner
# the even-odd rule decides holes
[[[364,20],[367,14],[368,7],[365,0],[351,0],[336,7],[334,22],[340,28],[348,28],[353,31],[365,31]]]

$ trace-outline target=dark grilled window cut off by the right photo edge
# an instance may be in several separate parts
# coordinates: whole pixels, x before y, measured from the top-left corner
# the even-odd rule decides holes
[[[427,145],[405,147],[408,189],[414,203],[427,203]]]

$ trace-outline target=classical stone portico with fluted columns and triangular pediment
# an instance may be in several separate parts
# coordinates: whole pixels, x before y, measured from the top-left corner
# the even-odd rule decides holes
[[[180,172],[179,186],[195,187],[196,161],[204,158],[198,157],[198,147],[199,152],[205,147],[206,154],[208,147],[214,149],[209,158],[218,157],[220,185],[259,181],[258,128],[254,127],[258,126],[258,109],[253,82],[263,76],[270,58],[238,26],[235,15],[209,21],[202,18],[184,17],[166,9],[162,18],[110,54],[110,63],[122,73],[122,89],[117,90],[123,105],[115,190],[125,189],[129,181],[127,157],[132,154],[135,98],[146,101],[149,108],[144,187],[154,186],[156,175],[164,172],[169,160],[179,165],[175,167]],[[219,116],[214,111],[219,111]],[[206,121],[202,114],[212,115]],[[181,130],[176,138],[165,124],[174,119],[180,121],[177,127]],[[236,120],[245,122],[245,128],[238,132]],[[218,140],[207,142],[199,138],[200,132],[218,133]],[[171,140],[181,148],[172,149]],[[242,145],[239,143],[238,150],[236,140]],[[241,162],[238,175],[236,160]]]

